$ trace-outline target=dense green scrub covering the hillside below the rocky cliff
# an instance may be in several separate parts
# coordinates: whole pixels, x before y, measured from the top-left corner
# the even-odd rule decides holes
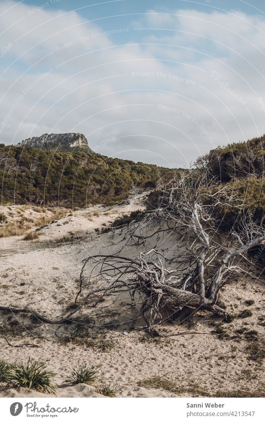
[[[0,144],[2,203],[112,204],[126,198],[135,184],[155,187],[171,171],[94,153],[55,153]]]

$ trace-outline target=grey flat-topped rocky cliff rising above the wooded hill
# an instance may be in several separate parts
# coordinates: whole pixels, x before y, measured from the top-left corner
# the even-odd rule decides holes
[[[41,148],[44,151],[87,151],[88,141],[82,133],[45,133],[39,137],[27,138],[18,145],[27,145],[33,148]]]

